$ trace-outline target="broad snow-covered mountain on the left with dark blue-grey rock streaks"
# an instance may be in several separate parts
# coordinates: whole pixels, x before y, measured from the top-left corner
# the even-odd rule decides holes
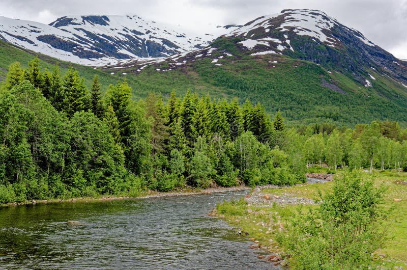
[[[227,30],[220,28],[217,32]],[[216,37],[188,37],[138,16],[70,16],[49,25],[0,17],[1,39],[61,60],[92,66],[123,59],[171,56],[204,47]]]

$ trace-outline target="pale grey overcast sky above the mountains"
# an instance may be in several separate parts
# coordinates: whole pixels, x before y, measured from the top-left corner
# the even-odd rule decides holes
[[[50,23],[68,15],[138,15],[195,33],[283,9],[318,9],[407,59],[407,0],[0,0],[0,15]]]

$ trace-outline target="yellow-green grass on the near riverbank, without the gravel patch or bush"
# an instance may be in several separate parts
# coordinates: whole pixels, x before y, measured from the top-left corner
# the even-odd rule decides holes
[[[389,217],[388,239],[383,249],[375,252],[378,266],[393,268],[407,267],[407,185],[397,182],[407,181],[407,173],[374,172],[375,185],[387,186],[385,208],[393,208]],[[321,194],[330,191],[333,182],[266,189],[263,193],[270,196],[293,195],[308,199],[321,199]],[[396,200],[395,200],[396,199]],[[318,207],[310,206],[312,207]],[[232,226],[249,232],[252,240],[258,240],[261,246],[270,252],[283,252],[274,241],[281,227],[298,211],[298,205],[272,205],[269,207],[249,206],[244,200],[224,202],[217,206],[218,214]],[[302,207],[305,211],[307,207]],[[289,232],[288,232],[289,233]],[[383,256],[384,255],[384,256]]]

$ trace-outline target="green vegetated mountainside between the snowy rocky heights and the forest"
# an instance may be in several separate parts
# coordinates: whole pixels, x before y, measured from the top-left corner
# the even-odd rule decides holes
[[[377,78],[372,82],[374,88],[366,88],[343,74],[330,74],[311,62],[279,55],[245,56],[234,43],[217,43],[215,45],[219,49],[227,48],[234,53],[232,57],[219,60],[222,66],[211,63],[211,59],[188,61],[177,70],[165,72],[156,68],[166,63],[146,67],[140,73],[132,72],[134,67],[105,70],[73,66],[85,77],[88,86],[93,75],[98,74],[103,90],[119,79],[126,79],[135,98],[146,97],[149,92],[169,94],[172,90],[182,96],[190,89],[213,98],[231,99],[237,96],[241,102],[246,98],[253,103],[261,102],[271,115],[280,109],[292,124],[329,122],[353,126],[375,119],[390,119],[399,121],[402,127],[407,126],[407,91],[388,77],[372,71],[371,74]],[[220,55],[220,52],[215,52],[212,58]],[[43,68],[52,69],[57,61],[47,56],[39,57]],[[0,41],[0,78],[5,77],[12,62],[20,61],[24,66],[32,58],[32,54]],[[278,63],[270,63],[273,61]],[[69,64],[59,62],[64,72]],[[348,94],[322,87],[322,78],[334,80]]]

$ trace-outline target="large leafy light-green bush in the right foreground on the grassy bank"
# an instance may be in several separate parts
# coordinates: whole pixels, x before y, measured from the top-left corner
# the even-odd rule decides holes
[[[359,172],[337,178],[321,206],[299,212],[290,235],[278,241],[293,254],[298,269],[365,269],[373,265],[371,254],[383,246],[386,218],[381,206],[383,188]]]

